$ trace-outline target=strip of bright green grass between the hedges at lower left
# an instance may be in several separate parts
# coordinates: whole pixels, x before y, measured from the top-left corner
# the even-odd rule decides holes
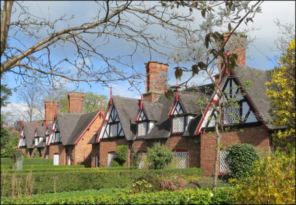
[[[36,194],[32,197],[20,197],[21,199],[54,199],[54,198],[71,198],[71,197],[81,197],[81,196],[100,196],[108,195],[113,196],[119,193],[122,188],[109,188],[109,189],[100,189],[100,190],[84,190],[84,191],[71,191],[71,192],[60,192],[60,193],[51,193],[51,194]],[[6,197],[3,197],[6,198]]]

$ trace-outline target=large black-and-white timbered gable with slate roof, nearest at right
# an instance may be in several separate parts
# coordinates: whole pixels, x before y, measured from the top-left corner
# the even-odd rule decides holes
[[[265,92],[266,79],[269,71],[239,66],[235,70],[225,74],[220,83],[220,89],[225,98],[221,97],[223,104],[222,124],[224,126],[264,126],[272,129],[269,100]],[[256,80],[254,80],[256,79]],[[219,91],[217,91],[219,92]],[[202,130],[214,127],[216,113],[212,103],[218,102],[218,93],[212,96],[208,107],[202,116],[195,135]]]

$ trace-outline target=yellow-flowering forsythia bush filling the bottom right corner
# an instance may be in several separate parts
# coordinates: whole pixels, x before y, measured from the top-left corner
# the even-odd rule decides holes
[[[237,181],[232,197],[237,204],[295,204],[295,148],[256,163],[248,177]]]

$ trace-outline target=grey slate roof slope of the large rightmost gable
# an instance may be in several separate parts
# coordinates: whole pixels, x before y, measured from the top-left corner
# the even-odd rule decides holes
[[[255,108],[259,112],[258,114],[262,117],[266,126],[269,129],[274,129],[271,124],[272,117],[268,112],[271,108],[269,98],[266,95],[268,86],[265,85],[266,81],[271,80],[270,70],[238,66],[232,73],[237,76],[242,84],[244,84],[245,81],[251,81],[250,87],[246,89],[246,93],[250,97],[250,101],[255,105]]]

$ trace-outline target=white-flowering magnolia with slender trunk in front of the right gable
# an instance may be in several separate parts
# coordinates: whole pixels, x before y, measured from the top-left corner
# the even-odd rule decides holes
[[[220,147],[222,145],[222,114],[227,106],[239,106],[237,104],[238,96],[229,99],[225,95],[229,91],[222,92],[222,88],[219,84],[222,82],[223,73],[227,73],[234,69],[237,60],[237,54],[235,48],[246,47],[247,40],[242,40],[244,32],[238,32],[238,28],[242,23],[248,24],[250,21],[253,22],[253,18],[256,13],[261,12],[260,4],[262,1],[219,1],[211,2],[210,4],[204,4],[199,1],[173,1],[166,2],[166,6],[171,7],[189,7],[190,11],[195,9],[200,10],[200,15],[203,21],[199,24],[199,28],[196,29],[194,34],[183,34],[180,32],[179,49],[172,54],[172,59],[178,66],[174,69],[177,80],[181,80],[183,72],[191,72],[192,76],[186,79],[183,83],[172,86],[165,95],[168,98],[174,96],[174,92],[177,89],[185,86],[191,78],[194,76],[202,75],[210,79],[214,85],[213,91],[199,92],[198,93],[198,105],[201,108],[206,103],[211,102],[211,106],[214,111],[212,118],[215,134],[204,131],[204,135],[213,137],[216,140],[216,161],[214,170],[214,186],[217,188],[218,184],[218,173],[219,173],[219,159],[220,159]],[[229,34],[226,37],[223,32],[227,31]],[[245,31],[246,32],[246,31]],[[197,33],[197,35],[195,35]],[[185,35],[185,36],[184,36]],[[183,36],[183,37],[181,37]],[[220,63],[218,66],[218,59]],[[183,67],[184,63],[191,63],[191,68]],[[218,69],[219,67],[219,69]],[[215,80],[214,75],[219,73],[219,79]],[[245,82],[246,87],[249,82]],[[239,88],[241,90],[247,89],[245,86]],[[210,95],[211,94],[211,95]],[[213,101],[215,98],[216,100]],[[203,109],[201,109],[204,111]],[[237,121],[241,119],[236,119]]]

